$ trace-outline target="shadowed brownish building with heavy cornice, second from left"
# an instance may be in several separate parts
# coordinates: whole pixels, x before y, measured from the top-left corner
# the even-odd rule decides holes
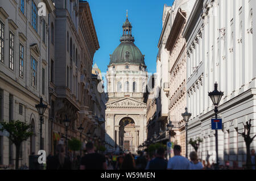
[[[80,125],[84,128],[81,141],[88,140],[86,131],[95,123],[90,85],[93,56],[100,48],[88,2],[55,1],[55,7],[51,22],[55,52],[49,75],[53,153],[59,140],[65,139],[66,116],[68,140],[80,138]]]

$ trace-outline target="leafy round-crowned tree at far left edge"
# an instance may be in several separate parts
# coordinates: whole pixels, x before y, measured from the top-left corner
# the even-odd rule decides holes
[[[9,132],[9,139],[16,147],[15,169],[19,169],[19,150],[23,141],[26,141],[33,132],[30,131],[30,125],[22,121],[9,121],[9,123],[1,122],[2,128],[0,131],[6,130]]]

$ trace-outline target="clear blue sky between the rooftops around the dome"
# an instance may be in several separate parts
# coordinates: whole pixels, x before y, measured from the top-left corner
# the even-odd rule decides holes
[[[173,0],[88,0],[96,28],[100,49],[94,55],[94,63],[106,72],[109,54],[114,52],[122,35],[122,24],[128,19],[133,26],[135,45],[145,54],[148,73],[156,72],[158,40],[162,31],[164,4],[172,5]]]

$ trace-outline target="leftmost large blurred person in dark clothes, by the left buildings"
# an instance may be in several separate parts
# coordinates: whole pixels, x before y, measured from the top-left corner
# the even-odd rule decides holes
[[[47,170],[71,170],[72,163],[68,157],[65,156],[65,149],[63,145],[56,146],[57,154],[49,157]]]

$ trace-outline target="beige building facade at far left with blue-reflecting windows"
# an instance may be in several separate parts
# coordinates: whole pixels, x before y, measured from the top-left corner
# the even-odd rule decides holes
[[[28,165],[28,155],[40,149],[40,121],[35,108],[42,96],[49,105],[49,14],[55,7],[44,1],[0,2],[0,121],[20,120],[31,125],[34,134],[22,143],[19,165]],[[43,149],[49,151],[49,106],[42,125]],[[0,133],[0,164],[14,166],[15,146],[8,134]]]

